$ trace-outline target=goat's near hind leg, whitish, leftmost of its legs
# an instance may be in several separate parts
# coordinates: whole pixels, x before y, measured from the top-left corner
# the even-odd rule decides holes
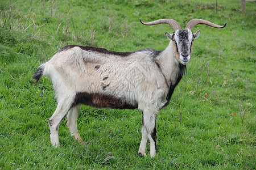
[[[53,146],[57,147],[59,146],[59,126],[61,120],[66,116],[66,114],[69,111],[69,108],[71,107],[71,97],[62,97],[58,101],[57,108],[55,112],[52,114],[51,118],[49,118],[49,128],[51,131],[50,139]]]

